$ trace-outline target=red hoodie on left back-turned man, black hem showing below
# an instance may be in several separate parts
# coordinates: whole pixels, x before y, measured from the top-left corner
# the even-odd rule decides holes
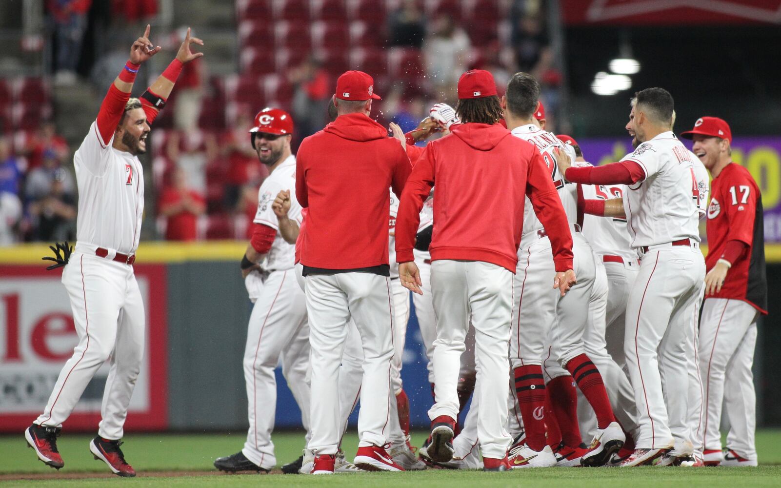
[[[296,198],[308,208],[301,264],[319,269],[388,265],[391,187],[401,195],[412,166],[369,117],[339,116],[301,141]]]

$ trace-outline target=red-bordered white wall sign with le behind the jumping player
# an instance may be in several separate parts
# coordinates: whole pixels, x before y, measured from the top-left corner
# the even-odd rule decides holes
[[[126,429],[167,426],[166,270],[135,266],[146,309],[144,362]],[[62,272],[42,265],[0,265],[0,432],[20,433],[43,411],[78,337]],[[67,429],[94,431],[100,422],[109,362],[87,385]]]

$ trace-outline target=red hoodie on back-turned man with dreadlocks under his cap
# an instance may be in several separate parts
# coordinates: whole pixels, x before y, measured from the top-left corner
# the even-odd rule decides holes
[[[515,272],[528,196],[552,230],[556,271],[572,269],[572,235],[540,151],[504,127],[483,123],[454,127],[415,163],[396,216],[397,262],[414,259],[420,209],[435,184],[432,261],[484,261]]]

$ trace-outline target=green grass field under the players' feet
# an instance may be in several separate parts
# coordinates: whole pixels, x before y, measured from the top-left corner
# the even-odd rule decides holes
[[[415,435],[422,443],[426,433]],[[85,478],[108,472],[100,461],[93,460],[87,443],[91,436],[63,435],[59,451],[66,461],[59,472],[37,461],[27,448],[23,436],[0,436],[0,484],[2,486],[545,486],[546,488],[588,488],[594,486],[781,486],[781,429],[764,429],[757,433],[759,468],[551,468],[522,469],[505,473],[449,471],[361,473],[339,476],[223,475],[216,474],[212,461],[233,454],[244,443],[243,433],[231,434],[128,434],[123,451],[139,476],[135,479]],[[299,433],[276,433],[276,456],[279,464],[292,461],[301,453],[303,436]],[[355,433],[345,437],[344,448],[351,456],[357,447]],[[180,472],[180,473],[177,473]],[[199,473],[201,472],[201,473]],[[193,475],[193,476],[183,476]],[[205,476],[209,475],[209,476]],[[32,479],[23,479],[25,476]]]

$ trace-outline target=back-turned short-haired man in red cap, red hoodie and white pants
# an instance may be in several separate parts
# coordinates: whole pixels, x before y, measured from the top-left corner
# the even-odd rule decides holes
[[[383,448],[394,352],[387,189],[400,195],[411,166],[398,141],[369,119],[372,100],[379,99],[373,85],[366,73],[343,73],[334,100],[339,116],[305,138],[298,151],[296,198],[308,208],[301,265],[312,347],[308,447],[316,454],[314,474],[333,472],[340,437],[338,368],[350,317],[364,350],[355,465],[403,470]]]

